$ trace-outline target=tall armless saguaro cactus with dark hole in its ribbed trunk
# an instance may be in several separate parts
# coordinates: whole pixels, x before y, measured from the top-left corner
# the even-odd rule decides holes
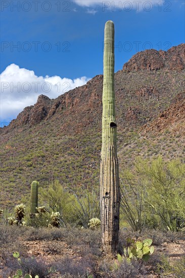
[[[114,94],[114,23],[105,24],[100,203],[104,252],[114,254],[119,235],[119,168]]]

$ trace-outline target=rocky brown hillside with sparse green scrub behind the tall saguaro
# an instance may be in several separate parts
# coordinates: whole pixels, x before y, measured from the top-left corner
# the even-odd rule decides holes
[[[185,44],[134,55],[115,73],[120,172],[137,156],[184,159]],[[55,100],[40,95],[1,129],[0,206],[37,179],[98,186],[103,75]]]

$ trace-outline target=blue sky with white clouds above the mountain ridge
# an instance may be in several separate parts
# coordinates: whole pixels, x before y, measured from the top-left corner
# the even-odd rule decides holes
[[[184,8],[183,0],[2,0],[1,123],[40,94],[56,98],[102,74],[106,21],[115,24],[116,72],[138,51],[184,42]]]

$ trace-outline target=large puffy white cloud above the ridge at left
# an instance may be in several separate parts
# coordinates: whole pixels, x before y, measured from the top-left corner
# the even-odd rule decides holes
[[[8,66],[1,78],[1,119],[16,118],[26,107],[36,103],[39,95],[51,99],[66,91],[86,84],[90,78],[61,78],[60,76],[36,76],[34,71],[19,68],[15,64]]]

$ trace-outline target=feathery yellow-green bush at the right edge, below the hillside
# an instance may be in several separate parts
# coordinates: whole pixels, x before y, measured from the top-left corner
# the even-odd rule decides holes
[[[145,165],[144,170],[151,212],[160,217],[168,230],[185,227],[185,165],[178,160],[165,163],[159,157],[151,165]]]

